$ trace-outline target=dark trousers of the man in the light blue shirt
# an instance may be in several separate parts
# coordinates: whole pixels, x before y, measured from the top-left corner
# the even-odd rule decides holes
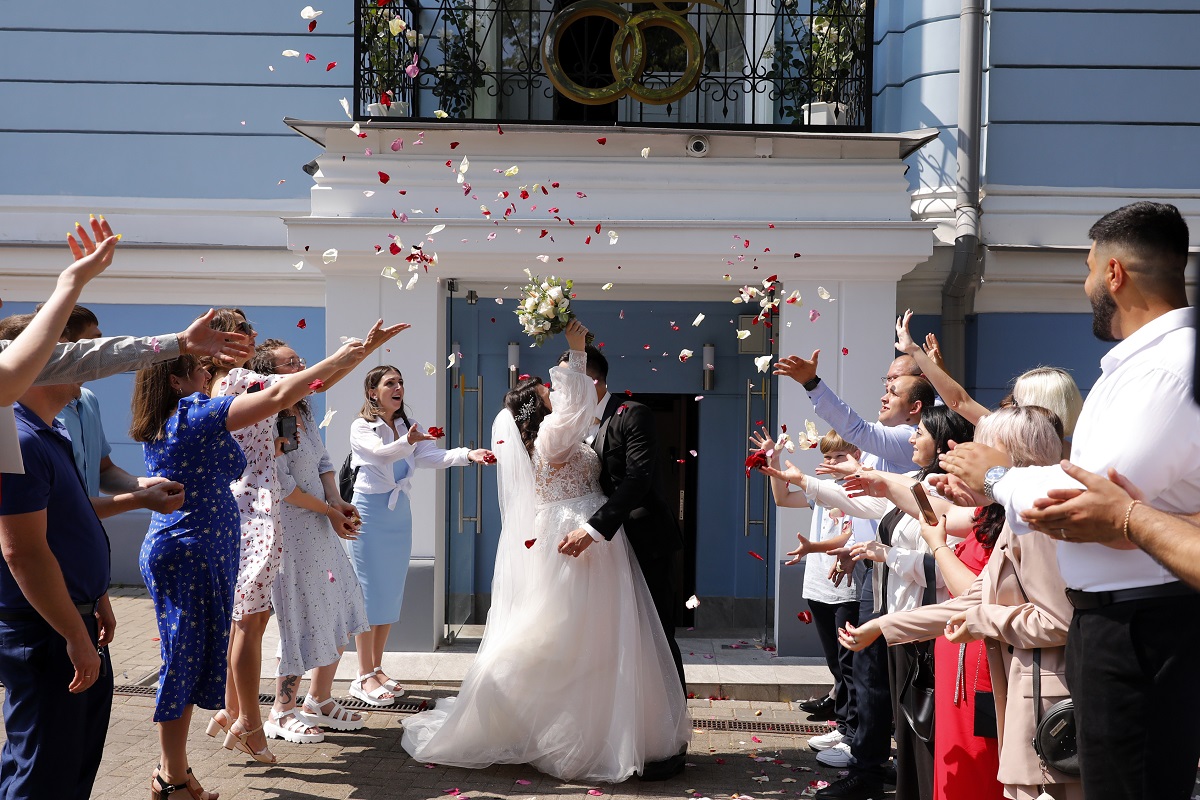
[[[859,625],[878,616],[874,610],[874,571],[870,564],[863,560],[854,567],[854,583],[859,588]],[[853,682],[857,726],[850,740],[850,754],[853,757],[850,770],[882,778],[892,756],[892,694],[888,691],[888,645],[883,637],[854,654]]]

